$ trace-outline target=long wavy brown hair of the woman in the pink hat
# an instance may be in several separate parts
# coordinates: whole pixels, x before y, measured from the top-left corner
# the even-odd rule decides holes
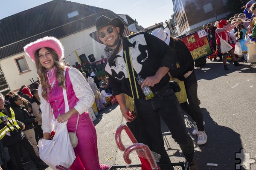
[[[65,76],[63,74],[65,65],[61,61],[59,61],[58,54],[52,48],[48,48],[48,47],[45,47],[45,48],[52,54],[52,58],[54,60],[54,66],[56,67],[56,70],[57,70],[55,77],[58,80],[58,86],[66,89],[66,86],[64,85]],[[51,86],[47,82],[47,75],[45,72],[45,68],[41,65],[41,63],[39,61],[40,49],[35,51],[35,66],[37,68],[37,73],[38,73],[39,80],[40,80],[41,86],[42,86],[42,96],[44,99],[47,100],[47,96],[48,96],[49,89],[51,88]]]

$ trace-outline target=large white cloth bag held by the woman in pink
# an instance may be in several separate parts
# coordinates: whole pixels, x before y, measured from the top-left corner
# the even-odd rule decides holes
[[[76,155],[68,135],[67,121],[64,123],[58,123],[56,120],[52,122],[56,122],[53,139],[38,141],[40,159],[53,170],[57,170],[55,168],[57,164],[70,167],[76,159]]]

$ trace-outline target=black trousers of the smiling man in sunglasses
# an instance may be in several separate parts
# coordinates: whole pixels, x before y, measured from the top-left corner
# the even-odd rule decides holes
[[[193,141],[186,130],[183,113],[174,91],[170,88],[164,94],[154,99],[135,99],[134,103],[135,112],[140,114],[140,118],[143,120],[145,134],[148,136],[151,151],[161,155],[160,163],[170,163],[169,156],[164,147],[160,116],[172,133],[172,138],[180,145],[185,159],[192,161],[194,157]],[[143,141],[137,140],[139,143]],[[145,142],[144,144],[148,143]]]

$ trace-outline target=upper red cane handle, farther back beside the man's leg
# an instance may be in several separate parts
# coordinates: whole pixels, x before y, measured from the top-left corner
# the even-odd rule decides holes
[[[125,132],[129,136],[129,138],[131,139],[132,143],[138,143],[138,142],[135,139],[134,135],[131,133],[131,130],[129,129],[128,126],[120,125],[119,127],[117,127],[117,129],[116,129],[116,145],[121,151],[125,151],[125,146],[124,146],[124,144],[122,143],[122,140],[121,140],[122,130],[125,130]]]

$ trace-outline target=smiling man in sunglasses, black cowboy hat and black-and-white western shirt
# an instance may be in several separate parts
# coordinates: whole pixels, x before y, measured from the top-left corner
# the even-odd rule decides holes
[[[132,121],[143,121],[144,126],[138,124],[136,129],[145,129],[143,134],[133,131],[137,141],[147,144],[152,151],[160,154],[160,164],[168,164],[171,161],[164,148],[161,116],[171,131],[172,138],[180,145],[185,159],[189,162],[190,170],[199,170],[183,113],[169,85],[168,71],[176,64],[175,52],[165,42],[146,32],[123,37],[124,29],[124,24],[119,18],[111,20],[101,16],[96,20],[96,31],[90,34],[94,40],[106,45],[105,54],[108,61],[105,70],[123,117],[131,124]],[[137,81],[139,77],[145,79],[141,85]],[[141,89],[143,86],[151,88],[153,98],[145,98]],[[134,99],[137,114],[135,120],[126,113],[130,110],[125,105],[125,94]],[[140,138],[141,136],[143,138]],[[172,170],[172,167],[168,169]]]

